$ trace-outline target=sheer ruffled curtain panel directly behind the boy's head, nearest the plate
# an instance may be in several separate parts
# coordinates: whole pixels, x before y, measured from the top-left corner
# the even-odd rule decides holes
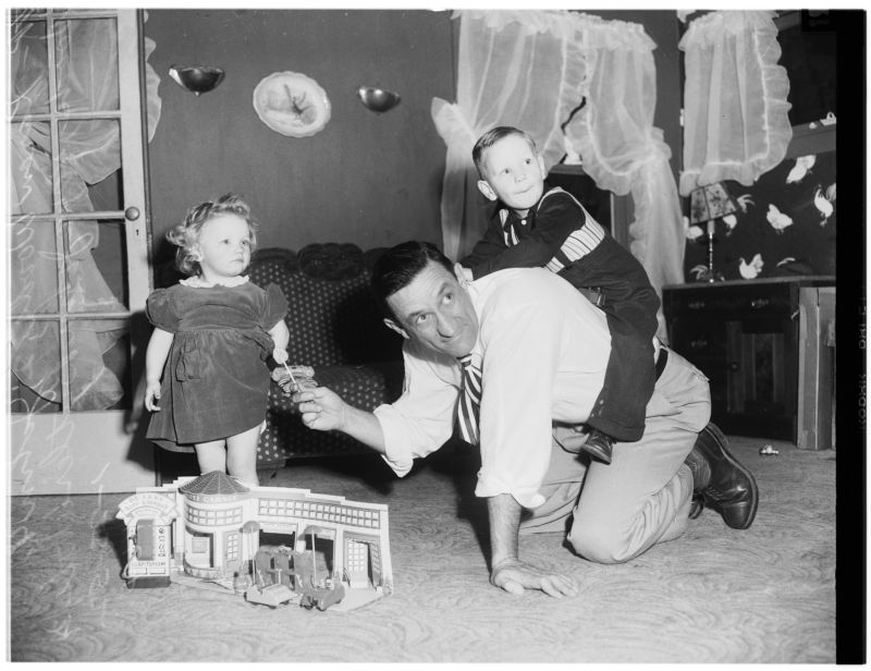
[[[432,119],[447,145],[442,188],[444,252],[459,258],[487,225],[476,186],[475,141],[495,125],[527,131],[548,169],[565,154],[561,124],[580,102],[585,59],[577,15],[562,11],[463,11],[456,103],[432,100]]]

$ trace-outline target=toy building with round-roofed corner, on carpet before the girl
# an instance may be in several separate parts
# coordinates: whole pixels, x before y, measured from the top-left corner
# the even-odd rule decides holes
[[[194,580],[232,588],[234,577],[250,572],[255,587],[262,589],[282,582],[275,562],[280,556],[308,548],[306,574],[311,569],[317,573],[319,560],[321,588],[326,578],[343,589],[346,606],[392,591],[385,504],[307,489],[249,488],[214,471],[162,487],[139,487],[119,504],[116,516],[127,528],[123,577],[128,587]],[[271,568],[263,564],[270,553]]]

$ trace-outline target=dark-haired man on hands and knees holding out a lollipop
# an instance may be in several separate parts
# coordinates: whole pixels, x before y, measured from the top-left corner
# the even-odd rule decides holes
[[[699,504],[733,528],[752,523],[756,481],[708,423],[708,379],[660,343],[641,440],[616,443],[610,465],[577,457],[610,335],[604,314],[562,278],[513,268],[468,282],[437,247],[409,242],[381,257],[372,284],[405,338],[402,396],[372,413],[323,387],[294,402],[306,426],[356,438],[400,476],[447,441],[456,418],[480,446],[475,493],[487,499],[493,585],[576,595],[573,576],[517,549],[518,534],[564,530],[568,516],[571,545],[601,563],[679,537]]]

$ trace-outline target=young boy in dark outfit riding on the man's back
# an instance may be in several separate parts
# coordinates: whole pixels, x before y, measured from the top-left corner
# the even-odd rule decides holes
[[[473,159],[478,188],[499,206],[483,239],[461,261],[466,274],[477,279],[504,268],[545,267],[608,317],[611,357],[584,449],[611,463],[613,442],[634,442],[643,432],[655,382],[659,296],[628,249],[571,194],[544,183],[544,161],[527,133],[492,129],[475,144]]]

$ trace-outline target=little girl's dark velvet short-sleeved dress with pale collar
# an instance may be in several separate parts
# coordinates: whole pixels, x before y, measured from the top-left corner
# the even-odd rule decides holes
[[[266,417],[274,346],[269,329],[287,313],[281,289],[158,289],[148,296],[151,324],[174,334],[160,383],[160,411],[146,438],[176,452],[242,434]]]

